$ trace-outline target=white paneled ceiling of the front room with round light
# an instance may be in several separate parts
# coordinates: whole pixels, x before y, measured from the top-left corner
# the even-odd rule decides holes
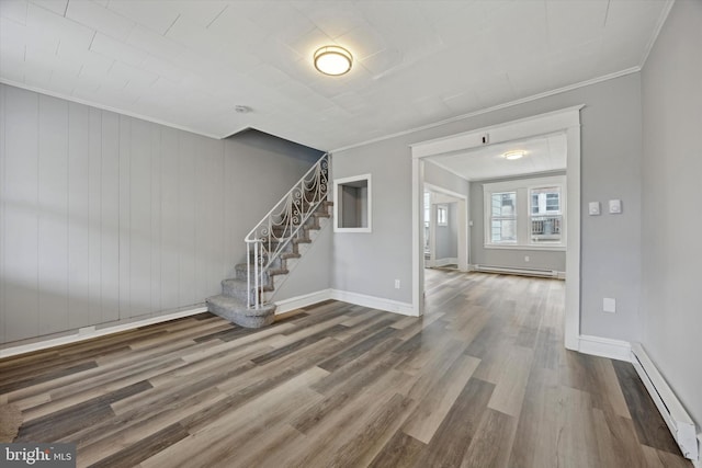
[[[669,3],[0,0],[0,81],[329,150],[636,70]],[[328,44],[349,75],[313,68]]]

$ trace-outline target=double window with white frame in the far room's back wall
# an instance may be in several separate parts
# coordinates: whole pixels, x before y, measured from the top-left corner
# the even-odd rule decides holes
[[[565,176],[487,183],[485,247],[565,248]]]

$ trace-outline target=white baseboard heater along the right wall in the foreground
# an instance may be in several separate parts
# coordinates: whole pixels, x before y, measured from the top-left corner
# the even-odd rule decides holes
[[[694,422],[648,358],[641,343],[632,343],[632,364],[646,386],[650,398],[668,425],[686,458],[698,460],[699,447]]]

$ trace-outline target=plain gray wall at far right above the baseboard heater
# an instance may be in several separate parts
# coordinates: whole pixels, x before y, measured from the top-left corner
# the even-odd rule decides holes
[[[643,345],[702,425],[702,2],[673,7],[643,70]]]

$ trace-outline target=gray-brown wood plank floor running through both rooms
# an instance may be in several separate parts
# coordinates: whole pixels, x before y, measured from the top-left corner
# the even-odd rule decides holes
[[[564,283],[427,271],[427,313],[210,313],[0,361],[18,442],[78,466],[689,467],[627,363],[563,347]]]

